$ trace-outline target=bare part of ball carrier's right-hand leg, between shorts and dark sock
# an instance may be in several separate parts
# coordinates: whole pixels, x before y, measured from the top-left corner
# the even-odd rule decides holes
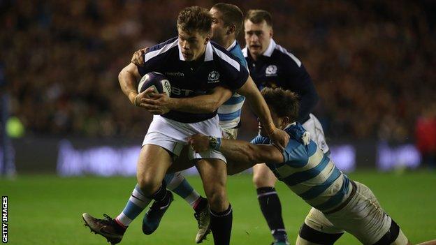
[[[226,163],[221,159],[197,159],[196,165],[200,172],[203,188],[214,211],[224,211],[228,207],[226,194],[227,170]]]

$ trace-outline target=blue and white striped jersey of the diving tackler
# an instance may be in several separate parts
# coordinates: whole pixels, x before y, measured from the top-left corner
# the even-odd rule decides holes
[[[351,193],[350,181],[335,167],[310,134],[299,123],[284,129],[291,138],[286,145],[284,163],[266,163],[280,181],[320,211],[338,207]],[[258,135],[252,144],[270,144],[270,139]]]

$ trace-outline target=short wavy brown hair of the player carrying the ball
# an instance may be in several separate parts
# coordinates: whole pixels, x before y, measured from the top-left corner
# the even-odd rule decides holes
[[[189,33],[198,31],[202,34],[210,34],[212,15],[207,9],[198,6],[184,8],[177,17],[177,29]]]

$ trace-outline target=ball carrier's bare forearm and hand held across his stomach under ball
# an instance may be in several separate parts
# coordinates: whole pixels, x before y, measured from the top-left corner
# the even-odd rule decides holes
[[[212,113],[218,110],[232,96],[232,91],[215,87],[210,94],[190,98],[170,98],[166,94],[153,94],[152,98],[142,98],[145,109],[153,114],[165,114],[170,110],[191,113]]]

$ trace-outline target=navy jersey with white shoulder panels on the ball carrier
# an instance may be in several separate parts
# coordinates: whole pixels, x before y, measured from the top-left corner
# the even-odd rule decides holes
[[[247,81],[248,70],[238,58],[216,43],[206,45],[204,62],[193,68],[184,60],[177,37],[166,40],[144,54],[145,66],[138,66],[140,75],[151,71],[163,73],[171,84],[171,97],[187,98],[206,94],[215,87],[231,90],[242,87]],[[183,123],[204,121],[215,117],[217,112],[194,114],[171,110],[161,115]]]

